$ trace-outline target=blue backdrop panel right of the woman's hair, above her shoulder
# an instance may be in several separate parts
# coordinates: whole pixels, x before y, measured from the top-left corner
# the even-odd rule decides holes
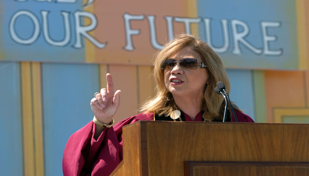
[[[231,82],[231,101],[256,121],[252,70],[226,69],[226,73]]]

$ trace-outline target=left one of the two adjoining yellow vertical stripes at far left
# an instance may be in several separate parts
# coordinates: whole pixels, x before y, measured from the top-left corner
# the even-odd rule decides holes
[[[35,175],[30,62],[21,62],[24,176]]]

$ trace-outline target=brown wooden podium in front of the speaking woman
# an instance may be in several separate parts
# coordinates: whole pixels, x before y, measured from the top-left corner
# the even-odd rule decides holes
[[[111,175],[308,176],[309,124],[140,121]]]

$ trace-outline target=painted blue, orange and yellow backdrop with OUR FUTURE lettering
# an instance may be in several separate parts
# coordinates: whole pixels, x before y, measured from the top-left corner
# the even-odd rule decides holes
[[[72,133],[111,73],[120,121],[154,95],[154,53],[175,34],[222,58],[231,100],[260,123],[309,123],[304,0],[0,1],[0,169],[62,175]]]

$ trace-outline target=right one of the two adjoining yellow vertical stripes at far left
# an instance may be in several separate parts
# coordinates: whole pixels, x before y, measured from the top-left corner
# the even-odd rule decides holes
[[[44,176],[41,64],[32,62],[32,96],[36,176]]]

